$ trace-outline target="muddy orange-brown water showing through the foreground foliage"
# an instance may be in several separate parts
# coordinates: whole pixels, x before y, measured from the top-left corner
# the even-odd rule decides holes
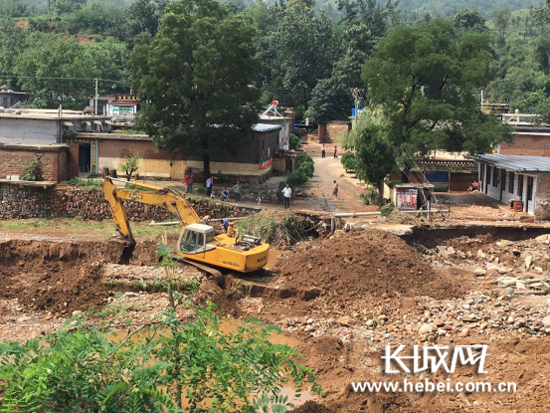
[[[275,252],[275,251],[271,251],[270,254],[272,252]],[[275,259],[277,258],[277,255],[275,253]],[[222,320],[221,323],[220,323],[220,330],[225,333],[225,334],[231,334],[232,332],[236,331],[237,327],[241,324],[241,320],[235,320],[235,319],[227,319],[227,320]],[[118,330],[114,333],[113,335],[113,341],[115,342],[121,342],[122,340],[124,340],[126,338],[128,334],[128,331],[126,330]],[[165,330],[163,332],[160,332],[160,334],[170,334],[170,332],[168,330]],[[133,336],[130,338],[131,341],[140,341],[140,340],[143,340],[143,335],[140,336],[139,334]],[[288,337],[288,336],[285,336],[283,334],[272,334],[271,337],[270,337],[270,340],[269,340],[271,343],[273,344],[285,344],[287,346],[291,346],[291,347],[297,347],[299,344],[300,344],[300,341],[299,340],[296,340],[292,337]],[[152,362],[151,362],[152,364]],[[163,389],[165,390],[165,389]],[[186,393],[186,389],[184,388],[183,389],[183,394]],[[295,406],[300,406],[302,404],[304,404],[305,402],[309,401],[309,400],[313,400],[313,394],[304,389],[301,391],[300,393],[300,397],[296,397],[296,391],[294,388],[292,387],[283,387],[281,389],[281,395],[282,396],[287,396],[288,397],[288,402],[289,403],[292,403],[294,404]],[[184,408],[187,407],[187,401],[185,398],[183,398],[183,403],[184,403]],[[205,401],[204,403],[204,407],[205,408],[208,408],[209,407],[209,402],[208,401]]]

